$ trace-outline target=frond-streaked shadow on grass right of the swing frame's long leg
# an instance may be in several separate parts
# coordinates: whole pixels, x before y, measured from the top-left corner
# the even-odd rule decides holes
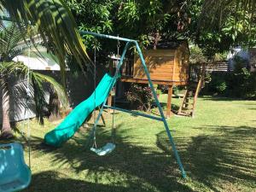
[[[188,175],[192,180],[203,183],[213,191],[219,191],[216,188],[218,180],[221,180],[219,186],[223,183],[241,181],[253,186],[256,181],[256,128],[248,126],[211,128],[216,131],[212,136],[175,138]],[[158,147],[166,153],[171,153],[166,132],[160,132],[157,138]]]

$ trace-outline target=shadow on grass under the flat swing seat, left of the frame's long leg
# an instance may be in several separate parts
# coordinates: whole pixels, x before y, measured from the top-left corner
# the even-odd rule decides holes
[[[69,179],[68,176],[58,177],[55,172],[42,172],[33,175],[31,188],[26,191],[40,191],[39,186],[45,188],[41,191],[55,192],[80,191],[76,190],[77,186],[80,186],[81,191],[194,191],[181,182],[181,173],[170,155],[139,143],[130,143],[132,137],[127,136],[129,132],[119,129],[119,126],[116,128],[117,148],[106,156],[96,156],[89,148],[85,148],[83,129],[61,148],[55,149],[43,146],[40,138],[33,137],[32,149],[37,150],[37,156],[48,153],[53,155],[49,167],[71,166],[73,172],[84,172],[84,177],[93,179],[95,183]],[[109,130],[99,127],[97,141],[100,147],[111,141]],[[108,183],[113,185],[97,184],[101,183],[98,181],[102,177],[106,177]],[[48,190],[50,185],[54,190]],[[57,189],[58,185],[60,189]],[[64,185],[67,185],[67,189],[63,189]]]

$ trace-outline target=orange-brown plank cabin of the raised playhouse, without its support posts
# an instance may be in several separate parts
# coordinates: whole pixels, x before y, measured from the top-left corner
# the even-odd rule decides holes
[[[177,82],[181,82],[181,84],[184,84],[184,82],[188,83],[189,47],[186,42],[178,44],[177,47],[172,47],[171,49],[147,49],[143,51],[143,56],[152,80],[159,82],[166,81],[166,84],[169,84],[169,82],[176,82],[175,84]],[[128,70],[129,74],[127,74],[125,67],[122,79],[132,78],[136,79],[135,82],[138,79],[148,79],[138,55],[134,56],[134,62],[129,69],[131,70]]]

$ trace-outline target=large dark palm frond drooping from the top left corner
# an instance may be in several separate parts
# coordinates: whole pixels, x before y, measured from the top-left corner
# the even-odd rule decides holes
[[[72,54],[79,67],[90,67],[82,38],[79,35],[75,20],[62,0],[0,0],[12,20],[25,26],[37,26],[45,43],[51,43],[53,52],[60,61],[61,76],[65,77],[65,59]]]

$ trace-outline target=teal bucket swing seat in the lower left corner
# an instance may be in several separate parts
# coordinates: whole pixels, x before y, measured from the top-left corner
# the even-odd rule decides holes
[[[25,189],[32,173],[26,166],[23,148],[19,143],[0,145],[0,192]]]

